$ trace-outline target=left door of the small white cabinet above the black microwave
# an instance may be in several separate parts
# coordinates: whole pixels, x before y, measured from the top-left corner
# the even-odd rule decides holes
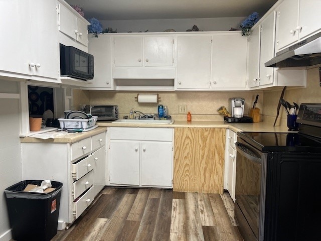
[[[65,35],[77,39],[77,17],[63,4],[59,4],[59,31]]]

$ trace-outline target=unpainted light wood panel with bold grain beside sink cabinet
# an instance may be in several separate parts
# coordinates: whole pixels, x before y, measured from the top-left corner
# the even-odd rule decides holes
[[[225,129],[175,128],[173,191],[223,193]]]

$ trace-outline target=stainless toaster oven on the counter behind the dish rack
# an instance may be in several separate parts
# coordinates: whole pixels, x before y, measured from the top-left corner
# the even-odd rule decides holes
[[[98,121],[115,121],[118,119],[118,105],[89,105],[91,115],[98,116]]]

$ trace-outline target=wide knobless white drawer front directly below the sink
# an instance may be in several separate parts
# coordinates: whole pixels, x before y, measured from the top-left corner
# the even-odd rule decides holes
[[[172,128],[110,128],[110,139],[172,142]]]

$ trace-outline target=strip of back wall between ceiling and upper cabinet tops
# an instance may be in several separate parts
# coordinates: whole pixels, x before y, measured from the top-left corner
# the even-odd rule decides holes
[[[200,31],[226,31],[231,28],[240,29],[240,24],[246,17],[235,18],[204,18],[204,19],[145,19],[145,20],[114,20],[100,21],[103,28],[117,29],[118,33],[135,32],[164,32],[174,29],[185,32],[196,25]]]

